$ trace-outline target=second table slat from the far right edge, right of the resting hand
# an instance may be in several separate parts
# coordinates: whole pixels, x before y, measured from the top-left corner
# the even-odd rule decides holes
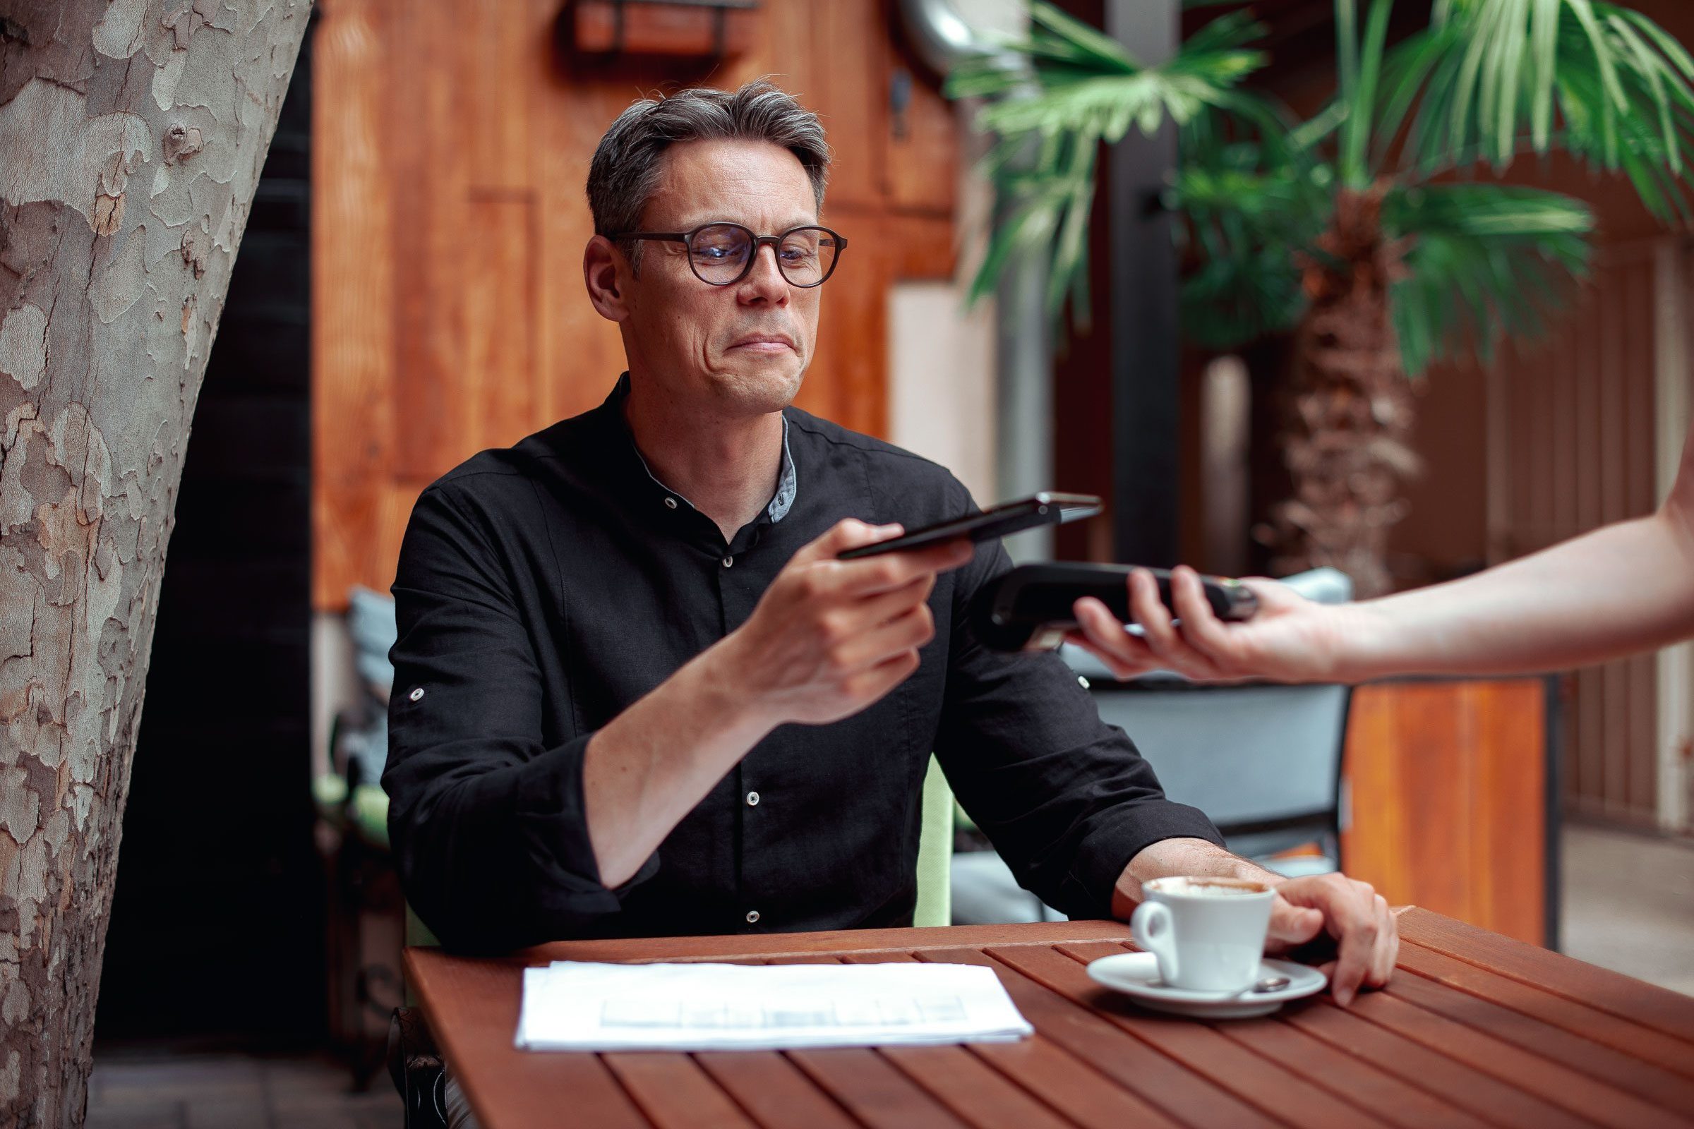
[[[1550,1027],[1581,1034],[1641,1061],[1694,1078],[1694,1044],[1667,1038],[1657,1029],[1623,1019],[1611,1011],[1581,1004],[1562,992],[1531,987],[1513,977],[1503,977],[1420,945],[1404,946],[1399,967],[1401,975],[1404,970],[1411,970],[1450,989],[1494,1000]]]

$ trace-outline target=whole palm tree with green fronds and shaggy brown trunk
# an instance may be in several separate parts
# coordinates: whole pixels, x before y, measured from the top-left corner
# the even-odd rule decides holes
[[[1020,64],[971,61],[949,91],[991,98],[981,125],[999,137],[988,171],[1001,218],[972,296],[1050,249],[1049,311],[1076,322],[1101,142],[1165,117],[1179,127],[1165,203],[1181,218],[1184,333],[1230,349],[1293,330],[1281,443],[1294,494],[1274,513],[1274,569],[1331,564],[1381,592],[1416,467],[1413,381],[1536,333],[1587,269],[1589,208],[1497,174],[1562,151],[1628,176],[1658,218],[1687,218],[1694,59],[1601,0],[1437,0],[1394,47],[1392,0],[1370,0],[1362,27],[1359,8],[1335,0],[1337,88],[1308,120],[1242,86],[1265,56],[1240,10],[1140,66],[1037,0],[1030,37],[1008,44]]]

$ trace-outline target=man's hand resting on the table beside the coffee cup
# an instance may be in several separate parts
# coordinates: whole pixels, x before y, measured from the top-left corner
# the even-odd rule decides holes
[[[1399,924],[1369,882],[1325,873],[1289,878],[1276,892],[1265,951],[1284,955],[1315,941],[1333,945],[1333,958],[1318,968],[1330,977],[1337,1004],[1345,1007],[1360,987],[1381,989],[1394,975]]]

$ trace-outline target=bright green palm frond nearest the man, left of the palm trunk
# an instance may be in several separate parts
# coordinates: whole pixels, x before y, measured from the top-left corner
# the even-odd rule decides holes
[[[1223,15],[1159,66],[1142,66],[1098,29],[1045,2],[1030,8],[1032,32],[1006,56],[972,59],[949,74],[949,96],[998,98],[977,115],[998,135],[984,169],[994,183],[999,220],[988,256],[971,286],[971,300],[991,293],[1016,256],[1052,249],[1047,310],[1057,318],[1066,301],[1088,320],[1088,218],[1101,144],[1132,129],[1157,132],[1206,113],[1235,115],[1267,134],[1282,134],[1267,105],[1237,90],[1264,64],[1247,44],[1262,34],[1245,14]],[[1272,129],[1272,125],[1276,125]]]

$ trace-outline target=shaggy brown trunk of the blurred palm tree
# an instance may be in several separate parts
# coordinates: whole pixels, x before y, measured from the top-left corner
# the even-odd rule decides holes
[[[1342,190],[1318,254],[1301,264],[1311,305],[1294,332],[1282,435],[1294,496],[1272,515],[1274,572],[1333,565],[1357,596],[1391,587],[1387,533],[1406,513],[1401,481],[1418,469],[1387,303],[1404,249],[1382,239],[1381,213],[1381,188]]]

